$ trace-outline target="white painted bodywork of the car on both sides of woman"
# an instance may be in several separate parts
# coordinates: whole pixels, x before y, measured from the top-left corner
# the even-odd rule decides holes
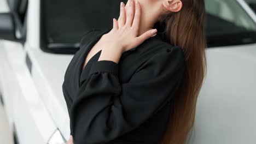
[[[248,5],[237,0],[256,22]],[[62,82],[73,55],[45,53],[39,45],[39,0],[29,1],[25,45],[0,41],[0,83],[10,127],[21,144],[47,143],[59,129],[69,138]],[[33,67],[26,65],[26,53]],[[189,143],[255,143],[256,44],[207,49],[208,71]]]

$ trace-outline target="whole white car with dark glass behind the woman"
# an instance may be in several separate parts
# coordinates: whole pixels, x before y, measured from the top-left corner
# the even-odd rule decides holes
[[[0,14],[0,97],[16,143],[69,139],[67,65],[86,30],[112,27],[119,15],[120,1],[98,3],[8,0],[10,12]],[[206,0],[206,9],[208,70],[188,143],[256,143],[256,17],[243,0]]]

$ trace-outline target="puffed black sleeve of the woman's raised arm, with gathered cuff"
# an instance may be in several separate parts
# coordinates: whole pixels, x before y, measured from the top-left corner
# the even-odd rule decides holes
[[[72,104],[74,144],[107,143],[137,128],[174,96],[185,61],[180,47],[150,57],[127,83],[118,63],[97,61]]]

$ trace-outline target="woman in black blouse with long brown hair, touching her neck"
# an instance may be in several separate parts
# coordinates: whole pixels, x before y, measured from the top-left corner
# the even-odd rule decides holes
[[[206,73],[204,19],[203,0],[129,0],[112,29],[87,32],[62,85],[67,143],[185,143]]]

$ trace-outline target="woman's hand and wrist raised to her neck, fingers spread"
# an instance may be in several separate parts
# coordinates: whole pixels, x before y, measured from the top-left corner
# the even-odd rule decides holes
[[[144,40],[156,35],[156,29],[139,35],[139,22],[141,20],[141,7],[136,0],[129,0],[125,6],[120,4],[120,16],[118,21],[113,19],[113,28],[96,43],[95,49],[101,49],[98,61],[113,61],[118,63],[124,51],[143,43]]]

